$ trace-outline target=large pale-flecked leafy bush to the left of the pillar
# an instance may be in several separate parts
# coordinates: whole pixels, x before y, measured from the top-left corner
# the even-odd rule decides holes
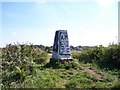
[[[2,83],[9,86],[13,81],[24,81],[34,71],[33,64],[45,63],[47,57],[46,52],[31,44],[6,45],[2,49]]]

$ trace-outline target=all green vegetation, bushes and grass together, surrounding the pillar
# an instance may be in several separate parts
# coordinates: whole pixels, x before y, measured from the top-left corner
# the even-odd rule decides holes
[[[73,61],[48,62],[46,51],[33,45],[2,49],[4,88],[120,88],[120,45],[73,52]]]

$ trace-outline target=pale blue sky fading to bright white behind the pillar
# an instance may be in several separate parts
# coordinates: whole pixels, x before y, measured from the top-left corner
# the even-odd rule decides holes
[[[68,31],[74,46],[117,42],[118,1],[1,2],[0,46],[12,42],[51,46],[60,29]]]

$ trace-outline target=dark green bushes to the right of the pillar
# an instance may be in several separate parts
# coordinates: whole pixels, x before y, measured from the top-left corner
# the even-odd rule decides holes
[[[95,46],[73,55],[80,62],[96,63],[109,69],[120,68],[120,45],[117,44],[108,47]]]

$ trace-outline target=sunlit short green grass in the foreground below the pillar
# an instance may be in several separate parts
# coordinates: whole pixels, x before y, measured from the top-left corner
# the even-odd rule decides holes
[[[80,67],[91,67],[95,72],[103,74],[100,80],[95,75],[85,72],[84,69],[51,69],[41,70],[36,67],[34,75],[26,78],[24,83],[13,82],[11,88],[112,88],[118,85],[118,71],[114,74],[111,71],[98,70],[92,64],[80,63]]]

